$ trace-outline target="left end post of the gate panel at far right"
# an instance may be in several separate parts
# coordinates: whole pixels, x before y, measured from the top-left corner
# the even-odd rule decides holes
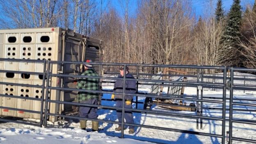
[[[233,67],[231,67],[230,73],[230,94],[229,94],[229,144],[232,144],[232,120],[233,120]]]

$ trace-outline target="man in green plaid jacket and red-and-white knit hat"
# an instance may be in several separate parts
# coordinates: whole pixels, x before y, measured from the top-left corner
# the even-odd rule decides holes
[[[86,62],[91,62],[90,59],[86,60]],[[92,68],[91,64],[85,64],[85,72],[81,75],[85,76],[98,76],[98,73]],[[98,90],[98,82],[97,78],[80,78],[76,84],[77,89],[85,89],[85,90]],[[92,92],[78,92],[77,101],[79,103],[98,105],[98,93]],[[89,119],[97,118],[97,107],[79,107],[79,115],[80,117],[85,117]],[[80,120],[80,127],[82,129],[86,129],[86,120]],[[92,130],[98,131],[98,121],[92,121]]]

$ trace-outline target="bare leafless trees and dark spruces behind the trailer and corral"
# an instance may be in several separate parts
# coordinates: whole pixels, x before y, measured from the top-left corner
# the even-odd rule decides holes
[[[191,0],[0,0],[2,28],[63,27],[104,41],[104,62],[256,68],[256,2],[210,0],[195,18]],[[104,3],[104,5],[103,5]]]

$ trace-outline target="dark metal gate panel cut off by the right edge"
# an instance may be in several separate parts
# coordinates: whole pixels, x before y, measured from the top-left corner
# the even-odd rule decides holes
[[[248,125],[256,125],[256,120],[246,119],[246,117],[233,117],[234,111],[238,112],[256,112],[256,99],[252,98],[243,98],[243,97],[235,97],[233,92],[235,90],[240,91],[256,91],[256,84],[244,82],[244,85],[238,83],[238,81],[250,81],[256,82],[256,77],[249,78],[238,78],[235,77],[235,72],[247,72],[247,73],[256,73],[256,69],[245,69],[245,68],[231,68],[230,81],[228,82],[230,88],[230,101],[229,101],[229,144],[232,144],[232,141],[242,141],[242,142],[251,142],[256,143],[254,139],[245,139],[242,137],[234,137],[233,136],[233,123],[243,123]],[[237,81],[237,82],[235,82]],[[242,109],[235,109],[234,106],[242,106]],[[241,131],[240,131],[241,133]]]

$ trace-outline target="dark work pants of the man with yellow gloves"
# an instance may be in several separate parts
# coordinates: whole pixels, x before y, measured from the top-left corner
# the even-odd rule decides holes
[[[117,101],[116,106],[122,108],[123,107],[123,101]],[[126,103],[124,103],[124,107],[125,108],[132,108],[132,104],[126,105]],[[119,122],[122,121],[122,111],[121,110],[117,110],[117,119],[118,119]],[[126,123],[134,123],[132,112],[126,112],[125,111],[124,119],[126,120]],[[134,126],[129,126],[129,128],[134,128]]]

